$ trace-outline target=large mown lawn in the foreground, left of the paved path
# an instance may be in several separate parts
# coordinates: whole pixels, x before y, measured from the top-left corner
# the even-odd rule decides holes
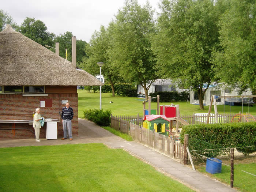
[[[0,148],[0,191],[192,191],[103,144]]]

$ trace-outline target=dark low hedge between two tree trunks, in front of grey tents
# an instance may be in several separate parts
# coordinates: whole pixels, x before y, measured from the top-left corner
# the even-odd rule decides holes
[[[172,102],[172,101],[187,101],[189,91],[159,91],[156,93],[150,93],[151,97],[160,96],[160,102]],[[151,102],[157,102],[157,99],[152,99]]]

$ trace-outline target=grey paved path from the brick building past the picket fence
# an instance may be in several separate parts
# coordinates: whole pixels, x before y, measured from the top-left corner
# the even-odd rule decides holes
[[[0,140],[0,147],[18,147],[18,146],[42,146],[42,145],[61,145],[78,143],[104,143],[112,148],[124,148],[132,155],[154,166],[160,172],[166,174],[189,186],[195,191],[203,192],[234,192],[232,189],[219,181],[212,180],[203,174],[184,166],[177,161],[166,157],[140,143],[128,142],[108,131],[95,125],[94,123],[79,119],[79,138],[74,140],[43,139],[41,142],[35,142],[34,139],[12,139]]]

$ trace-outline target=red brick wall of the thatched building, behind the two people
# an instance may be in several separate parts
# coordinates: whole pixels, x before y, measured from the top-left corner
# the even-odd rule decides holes
[[[47,94],[47,93],[46,93]],[[52,99],[52,107],[40,107],[41,99]],[[63,126],[59,112],[65,106],[61,100],[68,100],[70,107],[74,110],[72,120],[72,136],[78,136],[78,94],[77,93],[49,93],[43,97],[23,97],[22,94],[0,94],[0,120],[33,120],[33,113],[36,108],[41,109],[41,115],[44,118],[60,119],[57,123],[58,138],[63,137]],[[28,123],[16,123],[15,132],[12,129],[13,124],[0,124],[0,139],[24,139],[34,138],[32,125]],[[30,129],[29,129],[30,128]],[[40,138],[45,138],[45,125],[41,128]]]

